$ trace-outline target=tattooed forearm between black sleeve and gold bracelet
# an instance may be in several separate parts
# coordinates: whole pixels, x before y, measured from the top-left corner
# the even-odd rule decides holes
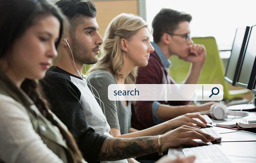
[[[98,160],[114,161],[157,152],[157,136],[105,139]]]

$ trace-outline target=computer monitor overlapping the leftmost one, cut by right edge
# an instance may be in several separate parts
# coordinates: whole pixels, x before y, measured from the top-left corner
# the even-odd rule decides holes
[[[252,90],[256,76],[256,25],[250,28],[236,86]]]

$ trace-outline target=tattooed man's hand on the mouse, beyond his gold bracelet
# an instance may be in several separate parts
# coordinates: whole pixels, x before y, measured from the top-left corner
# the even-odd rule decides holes
[[[178,147],[182,143],[189,143],[195,147],[198,146],[192,139],[201,139],[204,142],[209,142],[213,141],[214,137],[198,128],[183,125],[162,136],[162,150],[166,151],[169,147]]]

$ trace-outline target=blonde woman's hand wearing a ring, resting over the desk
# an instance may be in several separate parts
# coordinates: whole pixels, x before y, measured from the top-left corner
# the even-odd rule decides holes
[[[192,118],[200,119],[200,120],[197,121]],[[200,127],[204,128],[205,125],[203,123],[207,124],[207,121],[200,115],[200,113],[187,113],[185,115],[168,120],[166,123],[168,123],[168,126],[170,126],[171,129],[175,129],[182,125],[187,125],[187,126],[196,127],[196,128],[200,128]],[[196,124],[197,126],[195,126],[193,123]]]

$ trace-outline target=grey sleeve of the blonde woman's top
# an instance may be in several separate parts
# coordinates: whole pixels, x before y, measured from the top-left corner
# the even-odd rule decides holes
[[[100,100],[102,100],[102,102],[104,103],[105,114],[106,114],[106,118],[110,128],[117,128],[120,130],[119,120],[117,115],[117,101],[111,101],[108,99],[108,86],[110,84],[116,84],[113,77],[110,76],[110,74],[98,73],[98,71],[93,71],[89,74],[88,78],[92,86],[97,90]],[[90,85],[88,85],[88,87],[90,88]],[[93,92],[95,96],[98,97],[98,94],[94,89],[93,89]],[[97,98],[96,100],[99,103],[99,100]],[[104,113],[104,107],[102,102],[101,102],[101,108]]]

